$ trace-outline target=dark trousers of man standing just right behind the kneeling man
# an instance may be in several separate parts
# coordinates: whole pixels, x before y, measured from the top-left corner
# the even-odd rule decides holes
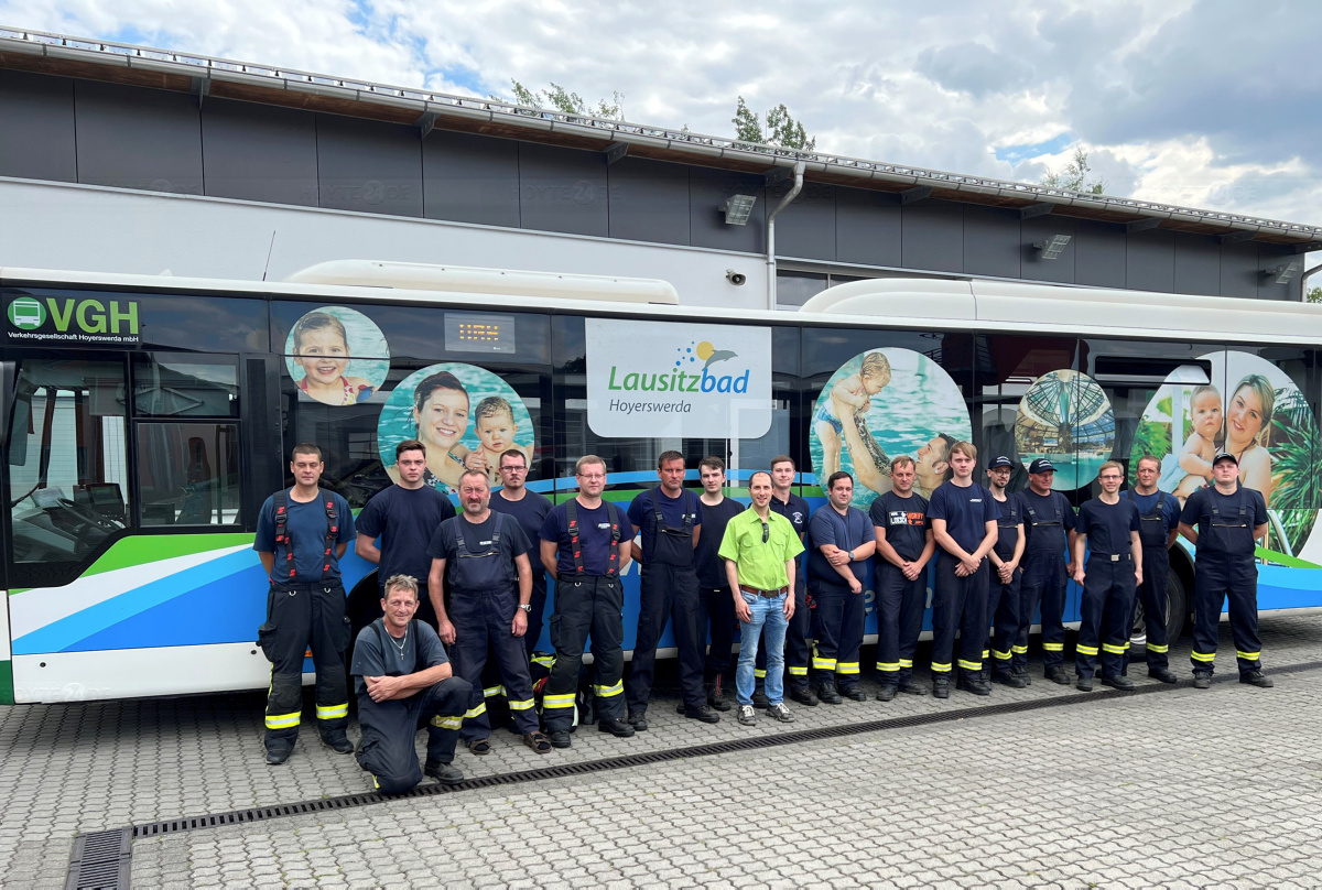
[[[514,726],[524,735],[537,731],[527,651],[524,641],[510,633],[517,611],[518,595],[513,585],[472,592],[455,587],[449,594],[449,620],[455,626],[449,660],[455,664],[455,674],[473,686],[473,700],[464,713],[464,726],[459,733],[465,742],[486,738],[492,733],[483,688],[483,668],[486,667],[488,653],[500,665],[500,681],[505,688]]]

